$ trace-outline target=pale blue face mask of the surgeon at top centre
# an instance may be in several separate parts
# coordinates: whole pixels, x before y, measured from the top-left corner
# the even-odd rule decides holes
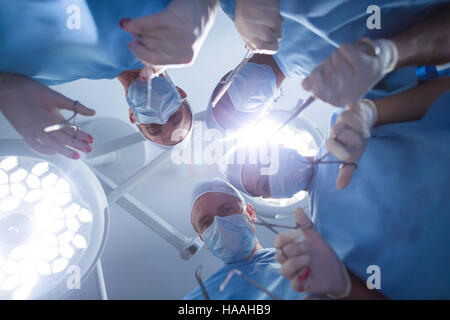
[[[270,66],[247,62],[237,73],[227,94],[236,110],[262,112],[278,98],[280,90]]]

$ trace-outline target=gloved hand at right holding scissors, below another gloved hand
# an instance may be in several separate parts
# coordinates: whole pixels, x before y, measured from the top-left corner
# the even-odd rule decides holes
[[[357,163],[361,158],[370,129],[377,122],[377,109],[368,99],[346,106],[339,115],[325,146],[336,158],[345,162]],[[341,165],[336,180],[336,188],[344,189],[353,177],[356,167]]]

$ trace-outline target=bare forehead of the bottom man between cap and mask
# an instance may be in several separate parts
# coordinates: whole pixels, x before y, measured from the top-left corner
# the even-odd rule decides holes
[[[192,207],[191,220],[194,222],[205,214],[215,215],[216,210],[224,205],[239,205],[241,201],[229,194],[222,192],[208,192],[195,201]]]

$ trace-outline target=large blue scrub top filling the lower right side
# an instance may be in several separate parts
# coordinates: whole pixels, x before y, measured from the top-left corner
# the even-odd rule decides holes
[[[325,153],[322,146],[318,156]],[[339,165],[318,165],[313,222],[364,282],[368,266],[381,268],[387,297],[449,299],[449,164],[450,92],[420,121],[374,128],[345,189],[335,187]]]

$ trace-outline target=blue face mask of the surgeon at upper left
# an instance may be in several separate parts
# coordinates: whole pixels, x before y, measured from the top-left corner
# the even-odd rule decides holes
[[[152,80],[150,108],[147,106],[147,82],[134,80],[128,88],[127,102],[140,124],[165,124],[181,106],[183,99],[172,81],[165,77]]]

